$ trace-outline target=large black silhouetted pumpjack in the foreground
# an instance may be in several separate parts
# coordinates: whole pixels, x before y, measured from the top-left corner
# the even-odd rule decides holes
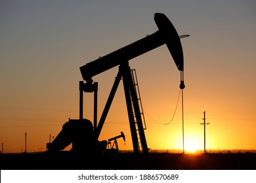
[[[106,116],[114,99],[120,80],[123,80],[127,112],[129,116],[129,125],[131,129],[131,139],[135,153],[148,153],[148,145],[144,134],[144,125],[142,122],[142,105],[139,103],[140,96],[137,91],[136,79],[133,70],[129,67],[129,61],[150,50],[154,50],[163,44],[167,45],[175,64],[181,71],[181,85],[184,88],[183,71],[184,61],[180,39],[188,35],[179,36],[173,24],[165,14],[156,13],[154,21],[158,26],[158,31],[147,35],[139,41],[133,42],[115,52],[100,57],[80,67],[83,81],[79,82],[79,119],[69,120],[63,125],[62,131],[53,142],[47,143],[49,151],[60,151],[72,143],[74,152],[104,152],[108,144],[107,141],[98,141],[98,137],[106,120]],[[97,92],[98,82],[93,82],[93,76],[96,76],[108,69],[119,66],[116,79],[106,101],[100,120],[97,122]],[[94,93],[94,121],[93,124],[87,119],[83,119],[83,92]],[[118,136],[119,137],[119,136]],[[113,138],[112,138],[113,139]],[[110,140],[112,140],[110,139]],[[115,138],[114,138],[115,139]]]

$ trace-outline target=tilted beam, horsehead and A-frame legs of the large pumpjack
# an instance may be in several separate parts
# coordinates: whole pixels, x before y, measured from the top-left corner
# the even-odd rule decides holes
[[[86,84],[84,85],[87,85],[86,87],[90,88],[89,86],[93,85],[93,76],[119,65],[119,72],[117,73],[116,80],[108,97],[108,101],[106,102],[106,106],[102,112],[102,116],[98,122],[98,126],[95,124],[96,138],[100,135],[100,131],[103,127],[104,121],[106,120],[106,116],[116,93],[119,81],[123,78],[123,88],[125,90],[133,150],[135,153],[140,152],[141,150],[143,152],[148,152],[148,146],[146,144],[146,137],[144,135],[144,127],[141,118],[143,111],[138,102],[138,95],[135,88],[136,84],[134,83],[128,61],[166,44],[177,68],[181,71],[181,76],[183,76],[184,71],[181,41],[175,27],[173,27],[173,24],[171,24],[165,14],[156,13],[154,20],[159,29],[156,33],[147,35],[139,41],[133,42],[119,50],[116,50],[115,52],[100,57],[95,61],[91,61],[90,63],[80,67],[83,80],[86,81]],[[182,35],[182,37],[187,36],[188,35]],[[184,88],[183,80],[181,80],[181,88]],[[84,92],[86,91],[84,90]]]

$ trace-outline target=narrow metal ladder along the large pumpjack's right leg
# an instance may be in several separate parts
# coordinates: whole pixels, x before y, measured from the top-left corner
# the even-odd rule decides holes
[[[139,84],[138,84],[137,74],[136,74],[135,69],[131,69],[131,75],[132,75],[132,78],[133,78],[133,84],[134,84],[134,87],[135,87],[135,92],[136,92],[138,103],[139,103],[140,115],[141,115],[141,118],[142,118],[143,129],[145,130],[146,129],[146,122],[145,122],[145,118],[144,118],[144,112],[143,112],[143,108],[142,108],[142,101],[141,101],[141,98],[140,98]],[[140,152],[142,152],[142,145],[141,145],[141,142],[140,142],[139,129],[138,129],[138,125],[137,125],[137,119],[136,119],[136,116],[135,116],[134,108],[133,108],[133,117],[134,117],[134,120],[135,120],[135,127],[136,127],[136,130],[137,130],[137,139],[138,139],[139,150],[140,150]]]

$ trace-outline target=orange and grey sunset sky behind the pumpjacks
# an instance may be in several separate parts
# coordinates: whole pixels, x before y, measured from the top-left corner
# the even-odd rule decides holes
[[[0,142],[3,152],[45,151],[79,118],[79,67],[158,31],[156,12],[175,26],[184,53],[184,148],[256,149],[255,1],[0,1]],[[152,150],[182,149],[180,73],[160,46],[129,61],[136,69]],[[98,119],[118,68],[98,82]],[[178,101],[179,97],[179,101]],[[177,111],[175,107],[177,105]],[[93,121],[93,94],[84,93]],[[170,122],[171,118],[173,120]],[[167,124],[168,125],[163,125]],[[99,140],[131,132],[120,83]],[[66,148],[69,150],[70,147]]]

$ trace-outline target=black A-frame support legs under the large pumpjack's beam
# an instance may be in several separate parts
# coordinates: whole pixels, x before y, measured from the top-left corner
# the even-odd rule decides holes
[[[98,139],[98,137],[100,136],[100,131],[102,130],[102,127],[106,120],[106,116],[108,114],[108,111],[110,110],[110,106],[114,99],[114,95],[116,94],[121,78],[123,78],[123,88],[125,92],[127,112],[129,116],[129,125],[131,129],[131,138],[133,141],[133,150],[135,153],[139,153],[141,152],[141,150],[144,153],[148,153],[148,146],[146,144],[146,137],[144,134],[144,128],[142,124],[141,112],[139,107],[139,99],[137,96],[137,92],[135,90],[135,84],[133,82],[131,69],[129,67],[128,62],[120,65],[119,72],[117,73],[116,80],[112,86],[112,90],[110,91],[110,95],[108,96],[108,100],[102,112],[100,121],[98,122],[97,126],[96,126],[96,123],[94,124],[95,125],[94,128],[96,129],[95,131],[96,139]],[[84,86],[86,86],[86,84],[84,84]],[[87,92],[85,89],[83,89],[83,91]],[[80,93],[80,95],[83,95],[83,94]],[[82,105],[80,104],[80,111],[82,110],[81,107]]]

